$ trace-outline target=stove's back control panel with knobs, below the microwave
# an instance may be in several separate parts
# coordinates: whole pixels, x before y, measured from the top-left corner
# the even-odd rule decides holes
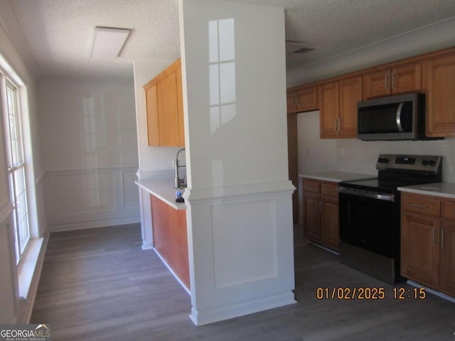
[[[442,156],[380,154],[378,171],[422,171],[437,174],[441,171]]]

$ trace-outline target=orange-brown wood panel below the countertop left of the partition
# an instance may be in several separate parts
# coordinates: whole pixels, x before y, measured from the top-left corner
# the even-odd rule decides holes
[[[150,195],[154,248],[178,278],[190,288],[186,211],[175,210],[158,197]]]

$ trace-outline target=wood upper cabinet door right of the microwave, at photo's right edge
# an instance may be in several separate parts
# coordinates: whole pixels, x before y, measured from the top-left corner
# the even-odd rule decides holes
[[[455,54],[424,62],[427,136],[455,136]]]

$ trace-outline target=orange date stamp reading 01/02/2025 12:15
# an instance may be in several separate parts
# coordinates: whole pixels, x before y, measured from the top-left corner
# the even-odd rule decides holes
[[[425,288],[392,288],[392,298],[394,300],[424,300],[427,297]],[[333,287],[316,288],[316,298],[318,300],[385,300],[390,298],[387,290],[383,287]]]

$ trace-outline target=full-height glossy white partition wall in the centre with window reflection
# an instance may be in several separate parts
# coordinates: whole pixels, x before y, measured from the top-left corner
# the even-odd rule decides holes
[[[184,0],[180,24],[190,317],[202,325],[295,302],[284,9]]]

